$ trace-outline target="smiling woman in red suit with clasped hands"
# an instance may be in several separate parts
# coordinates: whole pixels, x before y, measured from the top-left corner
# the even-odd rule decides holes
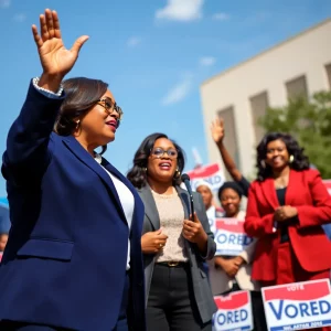
[[[256,237],[252,278],[263,286],[330,277],[331,196],[296,139],[267,134],[257,147],[245,231]],[[331,328],[323,328],[330,330]]]

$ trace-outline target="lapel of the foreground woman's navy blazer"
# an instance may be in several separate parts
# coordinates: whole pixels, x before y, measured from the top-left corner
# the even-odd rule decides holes
[[[117,203],[118,212],[121,215],[122,220],[127,223],[126,216],[121,206],[121,203],[119,201],[119,196],[117,194],[117,191],[115,189],[115,185],[109,177],[109,174],[98,164],[93,157],[83,148],[83,146],[73,137],[67,136],[63,138],[64,143],[66,147],[83,162],[85,163],[89,169],[92,169],[98,177],[103,180],[103,182],[108,188],[108,192],[113,195]],[[108,163],[110,164],[110,163]],[[114,167],[111,166],[111,172],[114,172]],[[107,167],[108,170],[108,167]],[[118,171],[117,171],[118,172]],[[118,172],[119,173],[119,172]],[[117,175],[118,177],[118,175]]]

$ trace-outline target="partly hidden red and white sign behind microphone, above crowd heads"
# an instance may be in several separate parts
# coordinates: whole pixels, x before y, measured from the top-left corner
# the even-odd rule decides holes
[[[224,173],[218,163],[195,168],[188,171],[188,174],[193,191],[196,191],[196,184],[201,184],[202,181],[211,185],[213,191],[217,191],[224,183]]]

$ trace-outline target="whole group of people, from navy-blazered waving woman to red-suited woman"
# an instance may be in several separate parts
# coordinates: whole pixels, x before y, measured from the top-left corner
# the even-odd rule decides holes
[[[122,118],[108,85],[64,79],[88,36],[67,50],[55,11],[40,25],[43,73],[3,154],[11,228],[1,330],[211,331],[213,297],[237,290],[250,291],[255,330],[267,330],[261,287],[330,278],[322,225],[331,197],[291,136],[264,137],[249,183],[223,143],[222,120],[213,122],[234,179],[218,191],[222,209],[206,182],[192,195],[181,186],[184,151],[164,134],[143,139],[125,177],[103,157]],[[237,256],[215,254],[213,217],[245,220],[252,243]]]

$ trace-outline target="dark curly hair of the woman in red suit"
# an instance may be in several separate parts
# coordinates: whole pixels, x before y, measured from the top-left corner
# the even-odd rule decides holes
[[[293,156],[293,161],[290,163],[292,169],[301,171],[310,168],[309,158],[303,153],[303,148],[299,146],[298,141],[292,136],[280,132],[267,134],[256,148],[257,179],[259,181],[264,181],[266,178],[273,175],[271,168],[264,163],[267,156],[268,143],[278,139],[286,145],[288,153]]]

